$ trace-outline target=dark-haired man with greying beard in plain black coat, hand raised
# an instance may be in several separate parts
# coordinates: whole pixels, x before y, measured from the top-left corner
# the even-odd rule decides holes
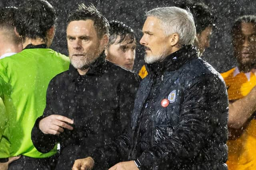
[[[57,170],[89,156],[121,134],[130,122],[139,78],[105,59],[109,24],[92,5],[79,5],[67,20],[70,69],[48,86],[44,115],[32,129],[38,151],[60,143]]]

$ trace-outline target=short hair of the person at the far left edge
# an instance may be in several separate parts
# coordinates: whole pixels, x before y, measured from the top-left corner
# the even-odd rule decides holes
[[[14,30],[14,15],[16,13],[16,7],[2,7],[0,8],[0,27],[12,28]]]

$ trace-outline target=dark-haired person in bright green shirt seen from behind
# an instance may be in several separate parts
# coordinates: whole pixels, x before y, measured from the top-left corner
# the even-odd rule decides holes
[[[56,148],[42,154],[31,141],[32,127],[46,106],[48,84],[56,74],[67,70],[70,63],[68,57],[48,48],[55,22],[55,10],[46,0],[27,0],[14,15],[15,31],[23,50],[0,60],[0,89],[9,118],[6,127],[9,134],[3,136],[10,142],[0,152],[8,150],[6,161],[8,157],[21,157],[11,162],[8,170],[49,170],[56,162]]]

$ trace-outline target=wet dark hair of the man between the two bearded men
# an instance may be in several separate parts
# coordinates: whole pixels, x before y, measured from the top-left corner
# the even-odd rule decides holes
[[[134,39],[136,39],[133,29],[123,22],[112,20],[110,21],[109,25],[110,36],[108,45],[114,44],[118,35],[120,35],[120,39],[116,43],[121,43],[126,37],[129,38],[129,42],[127,43],[132,43]]]

